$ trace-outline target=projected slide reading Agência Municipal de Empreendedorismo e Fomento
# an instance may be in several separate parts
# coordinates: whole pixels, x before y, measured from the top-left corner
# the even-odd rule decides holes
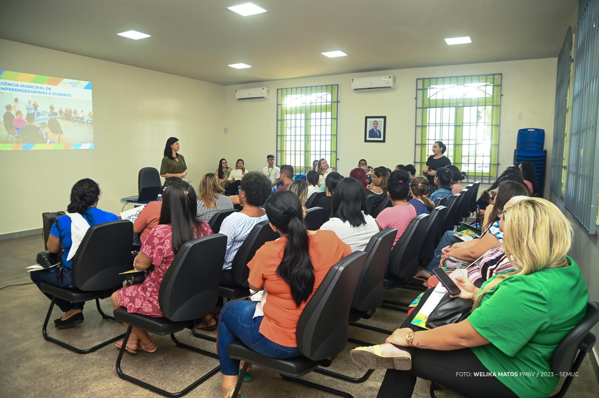
[[[93,149],[90,81],[0,69],[0,100],[0,151]]]

